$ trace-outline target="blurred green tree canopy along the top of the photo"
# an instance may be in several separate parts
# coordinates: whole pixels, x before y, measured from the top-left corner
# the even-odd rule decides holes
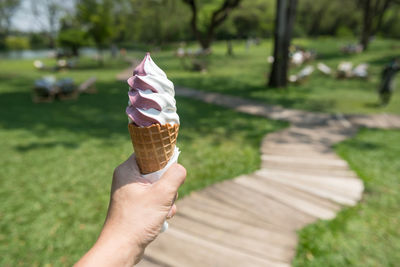
[[[0,48],[5,47],[6,35],[28,34],[15,31],[11,25],[20,2],[0,1]],[[76,41],[76,45],[83,44],[85,39],[98,48],[112,43],[133,47],[197,40],[207,49],[213,40],[268,38],[273,36],[276,10],[274,0],[74,0],[68,2],[71,9],[68,11],[62,9],[65,6],[62,0],[32,3],[34,8],[24,12],[42,16],[42,20],[47,18],[48,26],[41,32],[29,33],[31,43],[51,46],[56,38],[58,45],[71,47],[71,41]],[[364,33],[400,38],[398,3],[398,0],[301,0],[293,36],[361,38]],[[371,16],[367,14],[367,20],[368,10]],[[365,25],[371,25],[370,30]],[[38,41],[41,34],[47,40],[44,43]]]

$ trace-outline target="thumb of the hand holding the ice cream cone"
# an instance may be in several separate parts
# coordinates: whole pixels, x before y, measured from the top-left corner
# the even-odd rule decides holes
[[[153,184],[154,193],[163,199],[171,199],[172,201],[185,179],[186,169],[175,163],[168,168],[160,180]]]

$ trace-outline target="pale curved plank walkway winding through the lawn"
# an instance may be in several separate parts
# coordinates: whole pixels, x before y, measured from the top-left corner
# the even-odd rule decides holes
[[[264,138],[260,170],[179,200],[178,214],[147,248],[141,267],[289,266],[298,229],[332,219],[362,196],[361,180],[332,145],[360,126],[400,128],[398,116],[289,110],[184,88],[176,88],[176,94],[291,126]]]

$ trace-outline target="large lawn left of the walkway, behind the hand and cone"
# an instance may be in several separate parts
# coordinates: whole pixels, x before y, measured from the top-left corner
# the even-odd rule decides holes
[[[71,266],[95,241],[105,218],[113,169],[132,153],[128,87],[83,59],[56,73],[81,82],[95,75],[96,95],[33,104],[32,61],[0,62],[0,265]],[[178,146],[188,177],[184,196],[259,167],[259,143],[286,124],[177,98]]]

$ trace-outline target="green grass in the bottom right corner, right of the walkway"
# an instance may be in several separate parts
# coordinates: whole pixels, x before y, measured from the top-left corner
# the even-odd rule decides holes
[[[294,266],[398,266],[400,131],[364,129],[336,151],[364,181],[363,200],[301,230]]]

